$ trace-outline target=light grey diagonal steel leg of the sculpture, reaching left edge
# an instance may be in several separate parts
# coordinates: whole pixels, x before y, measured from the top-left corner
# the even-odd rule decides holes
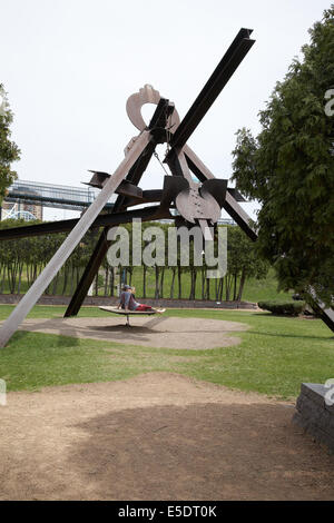
[[[125,159],[120,162],[114,175],[107,181],[101,193],[90,205],[90,207],[88,207],[87,211],[81,216],[76,227],[68,235],[61,247],[57,250],[46,268],[32,284],[28,293],[22,297],[14,310],[6,319],[0,330],[0,347],[4,347],[7,342],[11,338],[13,333],[18,329],[19,325],[26,318],[27,314],[40,298],[45,289],[52,282],[58,270],[62,267],[67,258],[75,250],[76,246],[85,236],[91,224],[96,220],[112,193],[115,193],[121,180],[125,178],[126,174],[129,171],[147,144],[150,141],[150,138],[151,135],[148,130],[143,131],[138,136],[134,146],[128,151]]]

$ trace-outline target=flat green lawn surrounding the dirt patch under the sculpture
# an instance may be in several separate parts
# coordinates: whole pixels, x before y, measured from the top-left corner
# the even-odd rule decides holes
[[[12,307],[0,306],[0,317]],[[30,317],[61,316],[65,307],[36,306]],[[267,313],[178,310],[168,316],[244,322],[242,344],[214,351],[155,349],[39,333],[17,333],[0,351],[0,378],[9,391],[46,385],[122,379],[147,372],[174,372],[242,391],[295,397],[301,382],[334,377],[333,333],[318,319]],[[105,316],[85,307],[81,316]]]

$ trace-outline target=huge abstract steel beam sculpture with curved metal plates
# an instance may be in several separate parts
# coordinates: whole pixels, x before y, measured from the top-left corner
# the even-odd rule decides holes
[[[104,227],[104,230],[65,316],[75,316],[79,312],[109,248],[111,238],[108,236],[108,230],[116,225],[129,223],[134,218],[141,218],[143,221],[176,218],[175,215],[170,214],[170,209],[176,207],[178,210],[176,218],[178,225],[198,224],[203,233],[207,234],[210,230],[207,226],[217,223],[220,210],[224,208],[242,229],[253,240],[256,240],[257,235],[250,225],[250,219],[238,204],[238,201],[244,201],[243,197],[236,189],[227,187],[226,179],[215,178],[187,146],[188,138],[254,45],[255,40],[249,38],[250,33],[250,29],[239,30],[181,121],[174,103],[161,98],[159,92],[150,86],[145,86],[138,93],[130,96],[127,101],[127,114],[140,132],[126,147],[125,159],[112,175],[94,172],[89,184],[100,188],[101,191],[80,219],[46,223],[0,231],[0,239],[70,231],[59,250],[3,323],[0,330],[1,347],[17,330],[20,323],[90,228]],[[148,126],[140,112],[144,103],[155,103],[157,106]],[[164,142],[168,145],[168,152],[164,162],[168,165],[173,176],[165,176],[163,189],[141,190],[138,187],[141,176],[155,154],[156,146]],[[193,180],[190,172],[196,176],[199,182]],[[118,197],[112,211],[101,214],[114,193],[117,193]],[[157,205],[132,209],[132,207],[143,204]],[[324,313],[324,317],[327,325],[334,330],[334,315],[331,317],[331,310]]]

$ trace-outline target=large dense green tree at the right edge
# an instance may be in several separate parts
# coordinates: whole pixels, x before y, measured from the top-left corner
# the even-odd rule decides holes
[[[333,17],[334,4],[259,112],[259,135],[238,130],[233,151],[238,189],[262,204],[258,250],[279,287],[313,286],[326,305],[334,294],[334,116],[325,110],[334,87]]]

